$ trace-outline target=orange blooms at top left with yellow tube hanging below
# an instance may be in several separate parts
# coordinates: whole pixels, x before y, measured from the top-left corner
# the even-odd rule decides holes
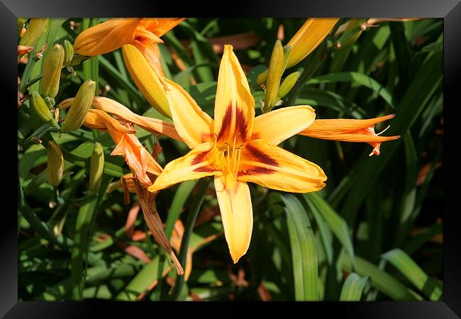
[[[113,18],[80,33],[74,52],[102,55],[122,47],[125,65],[145,99],[164,116],[171,117],[160,65],[160,36],[184,18]]]

